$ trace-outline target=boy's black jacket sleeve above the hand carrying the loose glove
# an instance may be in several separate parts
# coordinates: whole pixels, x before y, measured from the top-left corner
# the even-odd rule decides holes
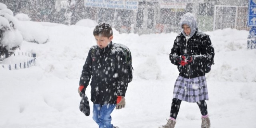
[[[82,74],[80,77],[79,85],[85,86],[85,88],[89,85],[90,79],[92,77],[92,57],[91,50],[88,53],[85,64],[83,65]]]

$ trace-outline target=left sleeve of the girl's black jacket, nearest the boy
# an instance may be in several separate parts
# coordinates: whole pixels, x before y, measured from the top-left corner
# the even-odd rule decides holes
[[[180,38],[176,38],[176,40],[174,41],[173,43],[173,48],[171,48],[171,53],[169,54],[169,58],[170,58],[170,61],[172,64],[174,65],[180,65],[178,63],[178,60],[180,59],[180,47],[178,45],[178,42],[179,42]]]

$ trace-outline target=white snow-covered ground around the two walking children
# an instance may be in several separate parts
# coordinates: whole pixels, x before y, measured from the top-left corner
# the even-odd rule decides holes
[[[36,23],[46,29],[48,42],[21,45],[21,51],[36,53],[35,66],[11,71],[0,66],[0,128],[97,128],[92,102],[86,117],[77,92],[88,50],[96,44],[93,28]],[[256,128],[256,50],[246,49],[249,32],[228,28],[206,33],[215,48],[215,65],[206,74],[211,128]],[[113,42],[130,48],[134,68],[126,107],[112,113],[115,126],[158,128],[166,123],[178,76],[168,57],[176,35],[114,31]],[[86,94],[90,96],[90,87]],[[182,102],[176,128],[200,126],[197,104]]]

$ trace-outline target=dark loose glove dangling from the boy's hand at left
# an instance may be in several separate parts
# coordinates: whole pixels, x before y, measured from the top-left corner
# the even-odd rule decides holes
[[[90,115],[89,100],[88,100],[88,97],[85,94],[81,95],[81,102],[80,102],[79,109],[80,109],[81,112],[83,112],[85,114],[85,116]]]

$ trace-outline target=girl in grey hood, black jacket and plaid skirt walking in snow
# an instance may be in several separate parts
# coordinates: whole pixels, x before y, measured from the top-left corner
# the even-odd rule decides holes
[[[214,48],[205,33],[197,30],[197,22],[191,13],[186,13],[180,21],[182,32],[176,37],[169,55],[172,64],[180,72],[173,90],[170,118],[159,128],[174,128],[182,101],[196,102],[202,114],[201,128],[210,128],[211,123],[205,100],[208,89],[205,73],[213,64]]]

